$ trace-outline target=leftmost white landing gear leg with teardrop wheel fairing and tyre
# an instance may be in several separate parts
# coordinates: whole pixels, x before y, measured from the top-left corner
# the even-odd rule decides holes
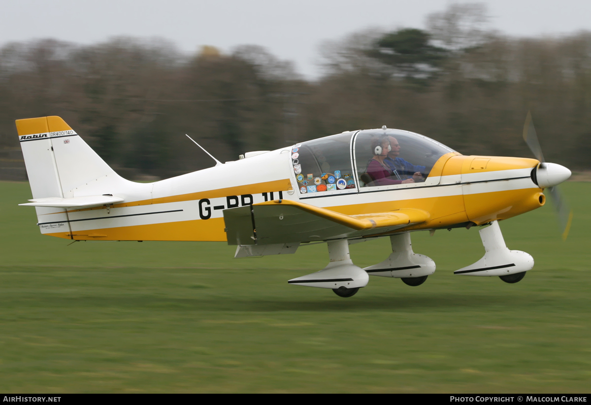
[[[355,266],[349,256],[349,241],[339,239],[329,241],[330,263],[316,273],[297,277],[288,281],[290,284],[330,288],[340,297],[350,297],[368,283],[368,273]]]

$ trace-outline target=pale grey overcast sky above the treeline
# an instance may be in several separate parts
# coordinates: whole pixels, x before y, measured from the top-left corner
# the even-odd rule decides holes
[[[319,73],[318,46],[368,27],[424,28],[449,0],[2,0],[0,44],[57,38],[82,44],[113,35],[162,37],[182,51],[202,45],[228,51],[257,44],[293,60],[307,77]],[[462,2],[460,2],[462,3]],[[589,0],[484,1],[490,27],[537,36],[591,30]]]

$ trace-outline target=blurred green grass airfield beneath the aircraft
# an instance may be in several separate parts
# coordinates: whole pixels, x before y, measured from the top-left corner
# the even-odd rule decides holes
[[[74,243],[44,237],[26,183],[0,182],[0,391],[589,393],[591,183],[504,221],[534,256],[509,285],[454,276],[483,254],[478,229],[413,233],[437,263],[424,285],[370,277],[352,298],[290,286],[326,246],[232,259],[225,243]],[[388,239],[351,246],[368,266]]]

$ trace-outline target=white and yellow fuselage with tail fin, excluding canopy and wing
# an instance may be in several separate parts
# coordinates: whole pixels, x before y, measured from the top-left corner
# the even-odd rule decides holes
[[[116,175],[59,117],[17,120],[17,129],[33,191],[29,205],[36,207],[41,233],[65,239],[225,241],[224,210],[272,200],[357,217],[408,208],[427,213],[398,231],[485,224],[534,210],[545,201],[532,179],[539,164],[535,159],[449,152],[424,182],[373,188],[358,184],[346,193],[311,195],[300,194],[291,147],[141,184]],[[115,196],[119,202],[60,208],[42,201],[89,196]]]

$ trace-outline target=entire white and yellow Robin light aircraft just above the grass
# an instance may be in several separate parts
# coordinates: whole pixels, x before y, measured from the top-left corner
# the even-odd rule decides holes
[[[329,264],[288,283],[341,297],[365,287],[370,275],[418,286],[433,274],[433,260],[413,252],[411,231],[485,224],[479,231],[485,255],[454,273],[518,282],[534,260],[506,247],[498,221],[544,205],[544,188],[558,201],[565,237],[572,219],[556,188],[571,172],[544,161],[529,114],[524,139],[537,159],[464,156],[383,126],[248,152],[152,183],[116,174],[60,117],[16,124],[33,194],[20,205],[35,207],[42,234],[74,241],[228,241],[235,257],[327,243]],[[365,269],[352,263],[349,244],[386,236],[392,253],[384,261]]]

